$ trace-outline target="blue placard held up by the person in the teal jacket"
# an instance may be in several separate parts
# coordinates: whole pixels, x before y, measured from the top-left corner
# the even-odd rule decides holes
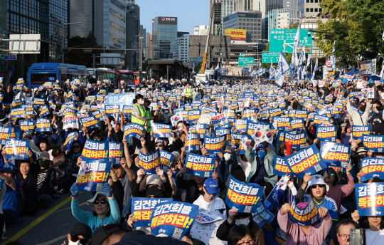
[[[82,158],[84,160],[84,158]],[[82,161],[78,173],[79,192],[101,191],[102,184],[108,182],[110,177],[111,163],[103,160]]]

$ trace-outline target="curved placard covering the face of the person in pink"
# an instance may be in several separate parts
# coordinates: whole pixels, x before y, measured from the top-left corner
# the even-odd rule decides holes
[[[300,226],[310,226],[311,224],[319,221],[318,208],[314,202],[314,199],[309,198],[309,202],[303,209],[297,207],[296,199],[292,198],[291,210],[289,212],[289,218]]]

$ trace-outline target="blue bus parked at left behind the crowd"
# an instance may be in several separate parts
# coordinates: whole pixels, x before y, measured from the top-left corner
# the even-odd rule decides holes
[[[28,83],[30,88],[36,88],[46,82],[60,83],[65,80],[79,79],[87,83],[90,73],[85,66],[77,66],[61,63],[34,63],[28,68]]]

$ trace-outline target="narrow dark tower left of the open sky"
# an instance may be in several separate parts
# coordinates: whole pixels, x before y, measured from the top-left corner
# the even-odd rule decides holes
[[[127,1],[127,22],[126,22],[127,48],[125,55],[125,67],[131,71],[139,70],[139,33],[140,33],[140,7],[134,0]]]

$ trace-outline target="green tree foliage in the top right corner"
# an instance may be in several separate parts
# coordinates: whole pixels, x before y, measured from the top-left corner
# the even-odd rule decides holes
[[[384,52],[381,36],[384,30],[384,1],[323,0],[323,13],[331,16],[326,23],[319,21],[316,43],[327,56],[335,41],[335,56],[341,66],[359,67],[359,62],[375,58]]]

